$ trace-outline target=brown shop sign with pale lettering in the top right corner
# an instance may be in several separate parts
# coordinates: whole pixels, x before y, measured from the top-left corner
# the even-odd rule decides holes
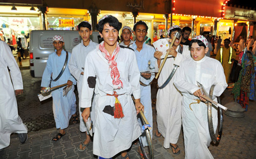
[[[225,18],[256,21],[256,11],[226,6]]]

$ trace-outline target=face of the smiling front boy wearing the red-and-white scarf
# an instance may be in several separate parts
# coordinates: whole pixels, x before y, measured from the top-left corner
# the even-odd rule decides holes
[[[109,23],[105,23],[102,33],[99,33],[101,38],[104,39],[105,46],[115,46],[118,38],[118,31]]]

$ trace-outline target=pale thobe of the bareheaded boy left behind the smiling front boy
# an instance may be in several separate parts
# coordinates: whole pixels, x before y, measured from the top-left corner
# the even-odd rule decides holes
[[[71,58],[69,61],[69,70],[70,73],[76,78],[77,81],[77,90],[78,90],[78,97],[79,97],[79,120],[80,120],[80,131],[85,132],[87,131],[86,123],[82,119],[82,111],[81,109],[81,89],[82,89],[82,80],[83,75],[81,72],[84,71],[84,63],[86,62],[86,56],[87,54],[94,50],[98,44],[90,40],[88,46],[84,46],[83,42],[81,41],[80,44],[76,45],[72,49]],[[94,122],[95,119],[95,113],[94,113],[94,102],[92,103],[92,110],[91,110],[91,120]],[[93,128],[94,130],[94,128]]]

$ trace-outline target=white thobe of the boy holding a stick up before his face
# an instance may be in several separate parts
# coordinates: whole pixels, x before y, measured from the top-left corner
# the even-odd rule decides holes
[[[168,58],[162,68],[158,78],[158,85],[162,86],[167,80],[170,73],[173,71],[174,66],[180,66],[180,63],[188,58],[191,58],[188,45],[183,45],[182,54],[179,53],[180,45],[177,47],[177,57]],[[163,60],[161,60],[161,63]],[[176,70],[179,70],[179,67]],[[169,148],[170,143],[176,144],[181,129],[181,93],[174,86],[174,74],[172,80],[163,88],[157,91],[157,127],[159,133],[164,137],[164,148]]]

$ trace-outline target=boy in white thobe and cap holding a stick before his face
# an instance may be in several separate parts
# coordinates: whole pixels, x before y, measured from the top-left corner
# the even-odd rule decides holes
[[[168,30],[168,34],[171,39],[174,39],[176,33],[182,33],[181,28],[178,25],[171,26]],[[169,55],[172,55],[172,58],[168,58],[163,66],[163,69],[158,78],[158,85],[161,86],[165,83],[170,73],[177,66],[180,66],[180,63],[185,59],[191,58],[188,45],[180,44],[182,38],[176,38],[174,45],[169,51]],[[163,62],[161,59],[162,52],[156,51],[155,57],[158,60],[158,67],[160,67],[160,62]],[[175,66],[177,65],[177,66]],[[177,68],[179,70],[179,67]],[[176,70],[176,71],[177,71]],[[177,72],[176,72],[177,73]],[[169,83],[162,89],[158,89],[157,92],[157,127],[158,131],[156,136],[162,135],[164,137],[164,148],[169,148],[172,146],[172,151],[175,154],[179,154],[180,150],[178,148],[177,142],[180,135],[181,129],[181,93],[174,86],[174,77],[176,73],[169,81]]]

